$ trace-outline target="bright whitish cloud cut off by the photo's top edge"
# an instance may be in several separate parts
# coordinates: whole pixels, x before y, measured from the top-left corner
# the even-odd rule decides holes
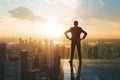
[[[82,0],[80,0],[82,1]],[[48,4],[62,4],[68,8],[76,8],[80,4],[79,0],[45,0]]]

